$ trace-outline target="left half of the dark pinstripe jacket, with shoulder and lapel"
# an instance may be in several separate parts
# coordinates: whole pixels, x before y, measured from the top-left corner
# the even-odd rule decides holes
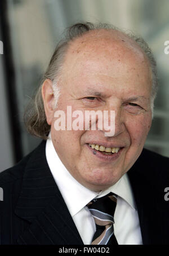
[[[1,244],[83,244],[47,165],[45,145],[0,174]]]

